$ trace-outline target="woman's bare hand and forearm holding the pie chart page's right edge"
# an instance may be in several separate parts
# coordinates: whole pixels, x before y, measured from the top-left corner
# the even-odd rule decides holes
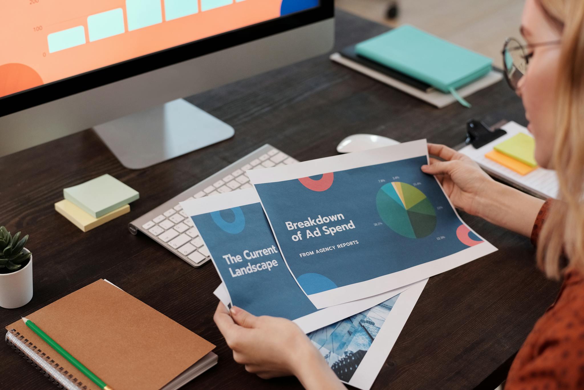
[[[529,237],[544,201],[492,180],[474,161],[444,145],[428,144],[430,158],[422,171],[436,175],[459,209]]]

